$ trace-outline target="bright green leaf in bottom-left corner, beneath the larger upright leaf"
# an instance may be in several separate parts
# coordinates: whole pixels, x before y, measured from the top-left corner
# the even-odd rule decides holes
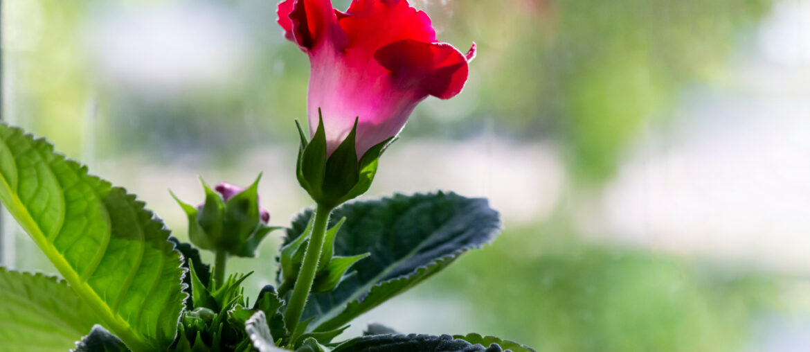
[[[65,281],[0,267],[0,351],[64,351],[98,324]]]

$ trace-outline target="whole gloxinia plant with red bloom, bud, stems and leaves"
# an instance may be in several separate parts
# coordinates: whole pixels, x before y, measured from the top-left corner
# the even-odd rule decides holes
[[[0,268],[0,351],[74,341],[79,351],[531,351],[379,324],[343,336],[357,316],[500,229],[487,200],[454,193],[346,203],[369,189],[420,101],[461,92],[475,49],[436,41],[428,16],[406,0],[355,0],[345,12],[329,0],[285,0],[278,15],[312,63],[296,176],[314,207],[271,226],[258,178],[244,188],[203,182],[198,206],[175,197],[188,218],[183,243],[134,195],[0,124],[0,201],[62,277]],[[254,257],[281,229],[275,285],[249,299],[241,285],[251,273],[228,275],[228,258]],[[200,250],[213,252],[213,267]]]

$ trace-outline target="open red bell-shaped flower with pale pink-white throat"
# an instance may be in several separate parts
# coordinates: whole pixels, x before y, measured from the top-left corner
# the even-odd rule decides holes
[[[309,54],[309,131],[322,109],[327,152],[352,130],[358,157],[402,130],[428,96],[449,99],[462,91],[475,57],[436,40],[423,11],[407,0],[354,0],[346,12],[330,0],[279,3],[284,36]]]

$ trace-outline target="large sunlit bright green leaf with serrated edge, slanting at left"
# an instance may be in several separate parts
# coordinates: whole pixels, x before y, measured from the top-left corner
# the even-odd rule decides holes
[[[105,328],[136,351],[172,343],[180,254],[143,202],[2,124],[0,201]]]

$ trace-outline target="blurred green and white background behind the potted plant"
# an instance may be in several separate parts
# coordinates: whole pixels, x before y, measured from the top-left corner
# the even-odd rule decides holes
[[[810,1],[411,2],[479,55],[461,95],[416,109],[364,198],[484,196],[505,230],[349,334],[810,350]],[[202,202],[198,176],[263,172],[272,225],[309,206],[293,171],[308,75],[275,0],[2,0],[2,118],[138,194],[179,238],[168,189]],[[229,264],[256,272],[249,295],[279,242]],[[55,273],[7,214],[0,252]]]

